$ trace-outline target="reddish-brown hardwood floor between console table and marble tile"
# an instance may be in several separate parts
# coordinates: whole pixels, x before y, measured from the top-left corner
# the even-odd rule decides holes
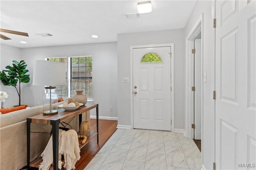
[[[96,119],[90,119],[91,131],[96,132]],[[116,131],[117,121],[115,120],[99,120],[99,143],[97,144],[97,137],[95,136],[87,145],[80,150],[80,160],[76,162],[76,169],[83,170],[89,162],[94,158],[98,151],[108,141],[108,139]],[[26,169],[25,167],[22,169]],[[30,170],[38,170],[38,168],[30,168]],[[62,170],[65,168],[62,167]]]

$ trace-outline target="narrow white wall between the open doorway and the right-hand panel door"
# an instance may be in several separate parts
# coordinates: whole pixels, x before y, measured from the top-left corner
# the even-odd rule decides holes
[[[184,28],[185,30],[185,37],[190,33],[195,23],[198,21],[200,16],[202,16],[203,13],[203,56],[204,56],[204,62],[203,62],[203,72],[207,73],[207,82],[204,83],[204,101],[203,101],[203,140],[202,140],[202,164],[203,168],[206,169],[212,169],[212,145],[213,145],[213,139],[211,136],[211,102],[212,102],[212,77],[211,77],[211,57],[212,57],[212,15],[211,15],[211,1],[198,1],[187,24]],[[213,120],[212,120],[213,121]]]

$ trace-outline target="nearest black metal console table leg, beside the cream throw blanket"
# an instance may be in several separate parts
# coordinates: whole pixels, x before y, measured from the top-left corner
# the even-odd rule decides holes
[[[53,148],[53,169],[58,170],[58,152],[59,152],[59,124],[60,119],[53,121],[52,125],[52,148]]]

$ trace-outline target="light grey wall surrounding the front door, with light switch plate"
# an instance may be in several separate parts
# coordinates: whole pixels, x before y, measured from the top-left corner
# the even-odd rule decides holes
[[[184,29],[118,34],[118,126],[131,125],[130,83],[122,82],[123,77],[130,77],[130,46],[163,43],[174,43],[174,128],[184,129]]]

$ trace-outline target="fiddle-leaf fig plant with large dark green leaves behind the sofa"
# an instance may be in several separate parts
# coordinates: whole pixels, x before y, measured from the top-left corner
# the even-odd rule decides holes
[[[0,71],[0,80],[5,86],[14,86],[19,96],[19,106],[20,106],[20,83],[28,83],[30,81],[29,74],[26,74],[27,64],[24,60],[12,61],[12,66],[8,65],[5,68],[7,70]],[[8,74],[6,74],[8,73]],[[19,82],[19,87],[17,88],[17,83]]]

